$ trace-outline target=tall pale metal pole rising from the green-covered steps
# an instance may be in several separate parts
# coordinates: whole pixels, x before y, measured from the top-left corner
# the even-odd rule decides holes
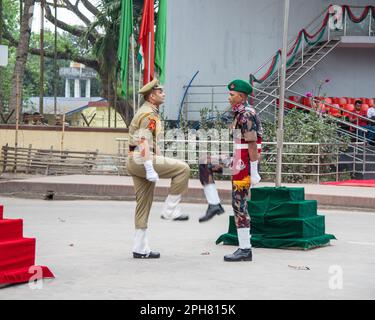
[[[289,0],[285,0],[284,10],[284,34],[281,62],[281,80],[280,80],[280,105],[279,105],[279,123],[277,129],[277,163],[276,163],[276,187],[281,186],[281,171],[283,160],[283,141],[284,141],[284,102],[285,102],[285,76],[286,76],[286,55],[288,46],[288,24],[289,24]]]

